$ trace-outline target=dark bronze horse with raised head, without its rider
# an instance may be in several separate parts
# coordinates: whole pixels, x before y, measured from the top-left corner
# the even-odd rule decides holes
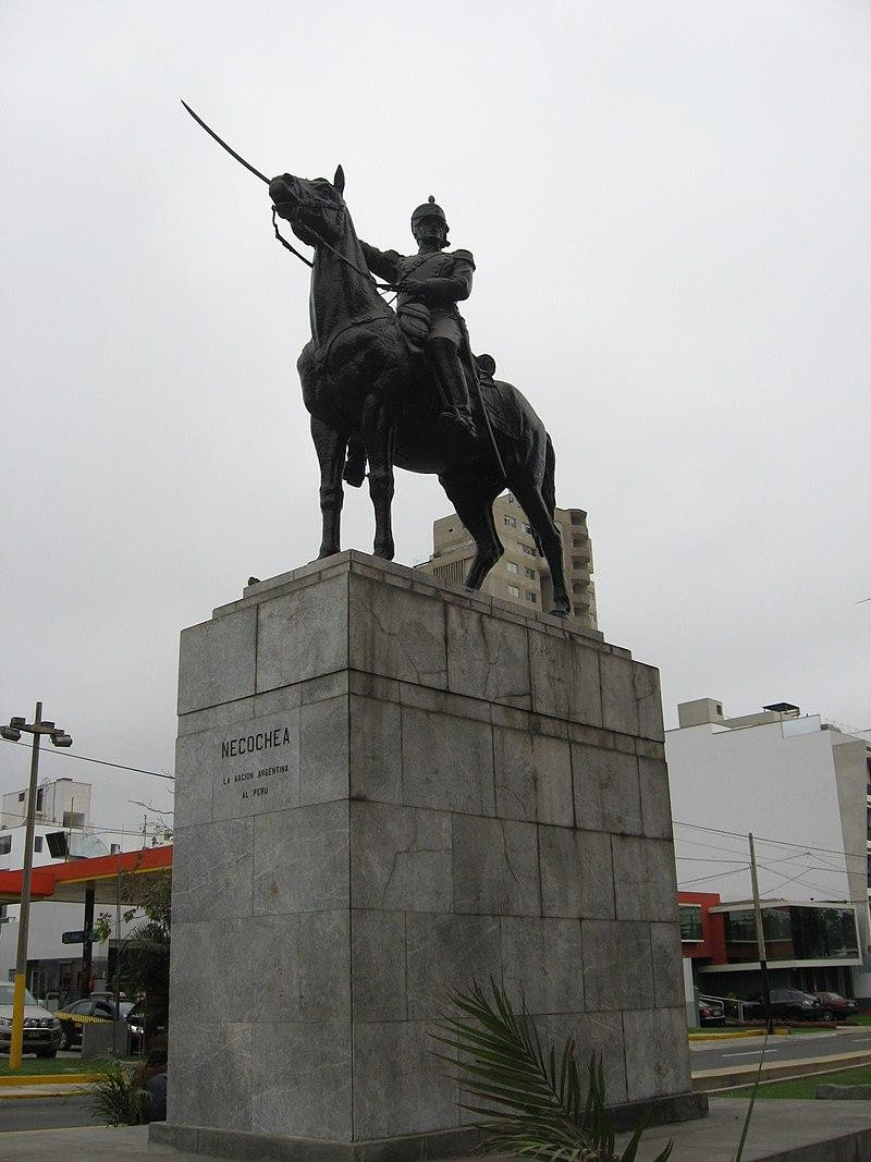
[[[475,540],[466,584],[478,589],[504,552],[492,502],[508,487],[526,512],[550,569],[553,612],[568,614],[562,544],[554,523],[555,456],[545,425],[516,387],[489,378],[473,393],[477,439],[455,436],[437,424],[434,376],[424,359],[409,350],[395,311],[377,293],[343,198],[344,187],[341,166],[332,182],[285,173],[269,184],[275,211],[297,238],[315,248],[311,340],[297,368],[321,465],[318,555],[339,552],[343,473],[348,482],[360,483],[368,460],[374,553],[393,560],[390,507],[394,466],[398,465],[438,475]]]

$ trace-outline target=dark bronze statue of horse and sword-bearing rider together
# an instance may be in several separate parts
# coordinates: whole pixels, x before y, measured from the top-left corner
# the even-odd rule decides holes
[[[310,263],[281,239],[311,266],[311,339],[297,368],[321,465],[318,557],[340,551],[344,482],[361,485],[367,464],[374,553],[387,560],[394,557],[394,467],[434,473],[475,540],[466,584],[480,589],[504,552],[492,503],[510,488],[547,560],[553,612],[567,615],[571,607],[554,523],[553,444],[520,392],[494,378],[492,358],[472,354],[458,303],[472,292],[475,263],[467,250],[446,250],[444,210],[430,198],[413,211],[418,251],[403,256],[358,238],[343,196],[341,166],[332,181],[285,173],[268,186],[273,217],[285,218],[315,251]],[[281,238],[278,225],[275,232]],[[396,292],[397,310],[379,294],[373,272],[386,280],[382,289]]]

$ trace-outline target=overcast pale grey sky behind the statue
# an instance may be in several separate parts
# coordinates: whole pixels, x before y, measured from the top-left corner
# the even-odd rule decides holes
[[[477,263],[476,350],[589,511],[606,637],[714,696],[871,725],[871,8],[3,0],[0,716],[172,769],[179,630],[317,550],[308,278],[267,174]],[[397,559],[448,505],[398,473]],[[370,550],[365,492],[344,545]],[[0,789],[23,748],[0,744]],[[154,780],[46,758],[136,823]]]

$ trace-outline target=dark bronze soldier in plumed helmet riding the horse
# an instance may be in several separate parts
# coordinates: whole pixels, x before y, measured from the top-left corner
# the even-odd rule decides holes
[[[472,294],[475,261],[468,250],[445,252],[445,211],[430,195],[411,215],[416,254],[377,250],[360,239],[366,263],[379,278],[399,286],[397,311],[409,345],[425,351],[441,390],[439,423],[460,436],[476,437],[467,375],[474,374],[466,323],[456,303]],[[468,371],[463,366],[468,365]]]

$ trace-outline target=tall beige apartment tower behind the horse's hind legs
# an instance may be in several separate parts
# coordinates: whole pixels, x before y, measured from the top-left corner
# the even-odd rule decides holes
[[[547,612],[553,607],[553,584],[547,561],[539,555],[526,515],[511,493],[494,502],[494,519],[505,554],[488,573],[483,593],[525,609]],[[562,536],[566,583],[571,597],[571,619],[596,630],[596,588],[592,581],[592,546],[583,509],[556,509],[554,519]],[[455,512],[439,517],[432,526],[432,557],[417,565],[442,581],[462,584],[475,555],[475,541]]]

